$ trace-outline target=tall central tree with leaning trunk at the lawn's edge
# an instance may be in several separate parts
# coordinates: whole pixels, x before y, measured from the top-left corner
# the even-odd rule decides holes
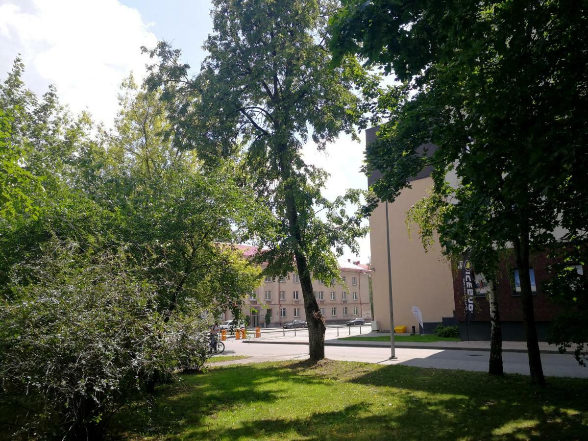
[[[334,6],[317,0],[215,0],[214,33],[204,45],[209,55],[201,74],[189,78],[180,52],[161,42],[151,51],[161,63],[149,80],[165,85],[176,145],[195,149],[207,164],[237,159],[242,185],[255,189],[272,210],[278,232],[262,235],[260,245],[268,249],[258,259],[268,262],[266,273],[272,275],[296,268],[311,359],[325,356],[325,323],[311,276],[338,278],[330,248],[341,253],[347,245],[356,252],[355,238],[365,233],[361,219],[343,209],[358,203],[360,192],[327,201],[320,189],[328,176],[302,157],[309,137],[324,149],[340,133],[355,133],[363,107],[353,81],[371,81],[354,58],[329,68],[326,17]],[[319,211],[326,215],[320,218]]]

